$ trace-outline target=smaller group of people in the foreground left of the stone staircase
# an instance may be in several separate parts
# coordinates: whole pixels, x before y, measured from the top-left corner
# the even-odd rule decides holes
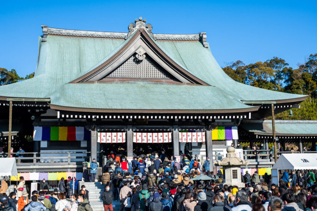
[[[77,193],[77,185],[76,178],[68,177],[68,180],[65,181],[62,177],[57,188],[49,191],[49,185],[43,179],[40,191],[34,190],[29,195],[24,178],[20,177],[19,183],[14,186],[14,191],[7,195],[8,184],[3,178],[0,189],[0,211],[92,211],[88,201],[89,191],[82,185]]]

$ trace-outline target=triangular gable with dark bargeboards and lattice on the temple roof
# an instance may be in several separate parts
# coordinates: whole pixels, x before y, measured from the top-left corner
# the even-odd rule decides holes
[[[145,58],[146,60],[142,61]],[[150,72],[146,71],[145,69],[144,71],[146,72],[143,72],[145,74],[152,76],[155,74],[166,75],[168,76],[167,79],[175,79],[176,81],[186,84],[209,85],[188,71],[184,70],[184,68],[168,57],[142,28],[136,31],[133,37],[126,43],[126,45],[123,46],[110,59],[107,59],[107,61],[105,61],[103,64],[99,65],[94,70],[86,73],[80,78],[77,78],[71,83],[103,81],[104,78],[109,77],[111,74],[114,76],[114,73],[119,73],[117,70],[122,67],[122,64],[127,64],[127,62],[129,62],[131,59],[138,60],[140,63],[144,62],[143,64],[152,63],[152,66],[154,66],[153,64],[156,65],[155,70]],[[121,72],[120,74],[131,74],[131,72],[127,71],[129,71],[129,69],[127,69],[125,73]],[[135,70],[132,70],[132,72],[133,71]]]

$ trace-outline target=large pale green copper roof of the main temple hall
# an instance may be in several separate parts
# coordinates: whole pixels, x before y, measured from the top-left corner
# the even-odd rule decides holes
[[[39,37],[34,78],[0,86],[0,96],[51,98],[54,105],[104,109],[242,109],[251,106],[241,101],[303,97],[235,82],[199,41],[154,42],[173,61],[210,86],[148,81],[69,84],[113,56],[131,37],[48,35],[46,42]]]

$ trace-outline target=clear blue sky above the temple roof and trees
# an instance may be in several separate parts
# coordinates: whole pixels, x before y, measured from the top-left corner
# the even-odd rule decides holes
[[[292,67],[317,53],[317,1],[2,1],[0,67],[22,77],[35,71],[41,24],[128,32],[142,16],[153,33],[207,32],[220,66],[274,56]]]

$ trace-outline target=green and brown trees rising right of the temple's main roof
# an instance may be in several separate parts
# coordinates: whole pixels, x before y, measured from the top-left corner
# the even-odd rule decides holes
[[[317,53],[310,54],[297,68],[288,67],[284,59],[273,57],[265,62],[245,65],[238,60],[223,68],[228,76],[240,83],[268,90],[308,95],[301,109],[292,109],[276,115],[276,119],[317,120]]]

